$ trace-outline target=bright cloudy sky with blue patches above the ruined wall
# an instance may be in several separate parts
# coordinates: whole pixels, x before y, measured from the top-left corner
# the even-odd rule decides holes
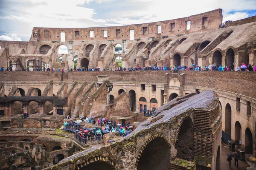
[[[223,21],[256,15],[256,0],[0,0],[0,40],[29,41],[33,27],[122,26],[217,8]]]

